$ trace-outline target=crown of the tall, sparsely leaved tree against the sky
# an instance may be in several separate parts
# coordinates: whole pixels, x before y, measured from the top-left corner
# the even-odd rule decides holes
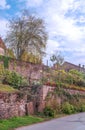
[[[28,11],[24,11],[9,21],[6,41],[14,50],[17,59],[20,59],[24,52],[43,55],[47,42],[45,23]]]

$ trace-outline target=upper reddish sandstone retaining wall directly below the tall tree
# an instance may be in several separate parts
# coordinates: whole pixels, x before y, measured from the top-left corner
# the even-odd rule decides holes
[[[42,76],[42,65],[11,59],[9,70],[16,71],[27,79],[38,80]]]

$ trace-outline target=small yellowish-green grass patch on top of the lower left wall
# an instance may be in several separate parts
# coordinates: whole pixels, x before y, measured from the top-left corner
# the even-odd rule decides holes
[[[13,87],[9,86],[9,85],[4,85],[0,83],[0,92],[8,92],[8,93],[13,93],[13,92],[17,92],[17,89],[14,89]]]

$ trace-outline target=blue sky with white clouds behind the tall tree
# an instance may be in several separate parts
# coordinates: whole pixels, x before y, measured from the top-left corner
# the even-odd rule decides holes
[[[60,51],[65,61],[85,65],[85,0],[1,0],[2,38],[7,33],[8,20],[23,9],[45,20],[48,32],[45,63]]]

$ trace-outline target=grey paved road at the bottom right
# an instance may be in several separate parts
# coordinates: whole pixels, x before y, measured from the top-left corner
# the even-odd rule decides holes
[[[85,113],[53,119],[16,130],[85,130]]]

